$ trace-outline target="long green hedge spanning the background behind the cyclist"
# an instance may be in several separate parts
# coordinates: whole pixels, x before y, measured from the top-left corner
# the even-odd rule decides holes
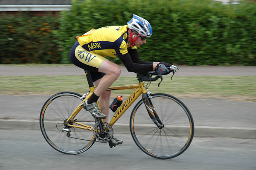
[[[212,0],[73,0],[71,11],[61,12],[58,20],[46,17],[29,22],[32,19],[15,17],[3,26],[1,18],[0,28],[7,30],[8,39],[2,41],[5,35],[0,35],[0,43],[9,45],[0,49],[1,55],[23,54],[27,62],[37,58],[35,62],[41,63],[59,62],[61,56],[61,63],[68,63],[76,36],[92,28],[126,25],[132,14],[147,19],[153,29],[152,37],[139,48],[143,60],[187,65],[256,65],[256,3],[245,0],[238,5],[222,5]],[[9,28],[13,23],[22,25],[19,29]],[[46,26],[50,26],[46,30],[51,31],[40,30]],[[16,33],[11,29],[17,29]],[[33,30],[41,33],[32,38]],[[26,36],[18,32],[26,32]],[[15,35],[19,40],[15,40]],[[40,53],[30,52],[34,49]],[[119,62],[118,58],[111,60]]]

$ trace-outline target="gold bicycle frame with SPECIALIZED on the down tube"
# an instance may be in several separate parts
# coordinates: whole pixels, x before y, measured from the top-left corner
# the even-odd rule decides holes
[[[67,125],[69,127],[75,127],[75,128],[80,128],[80,129],[84,129],[84,130],[94,130],[94,127],[88,126],[86,124],[81,124],[78,123],[76,121],[74,121],[74,118],[76,117],[76,115],[80,112],[80,110],[83,107],[84,101],[86,101],[90,95],[92,95],[92,93],[95,91],[94,86],[90,87],[90,92],[87,95],[87,97],[81,102],[81,104],[79,104],[78,107],[76,107],[76,109],[74,110],[74,112],[71,114],[71,116],[67,119]],[[136,101],[136,99],[141,95],[146,93],[146,89],[144,87],[143,82],[140,82],[139,84],[134,84],[134,85],[127,85],[127,86],[116,86],[116,87],[110,87],[108,90],[124,90],[124,89],[135,89],[134,92],[131,93],[131,95],[122,103],[122,105],[116,110],[116,112],[114,112],[114,115],[110,121],[110,125],[113,126],[113,124],[116,123],[116,121],[125,113],[125,111],[131,106],[131,104],[134,103],[134,101]],[[69,124],[69,121],[73,121],[74,124],[78,124],[79,126],[76,125],[72,125]]]

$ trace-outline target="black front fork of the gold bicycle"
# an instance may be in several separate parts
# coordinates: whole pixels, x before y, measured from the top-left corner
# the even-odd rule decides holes
[[[154,108],[151,99],[148,97],[148,94],[147,94],[147,93],[144,93],[144,94],[142,95],[142,98],[143,98],[145,107],[146,107],[146,109],[147,109],[147,111],[148,111],[149,117],[152,119],[152,121],[154,122],[154,124],[156,124],[159,129],[162,129],[162,128],[164,127],[164,124],[163,124],[163,122],[160,120],[159,116],[157,115],[157,111],[156,111],[156,109]]]

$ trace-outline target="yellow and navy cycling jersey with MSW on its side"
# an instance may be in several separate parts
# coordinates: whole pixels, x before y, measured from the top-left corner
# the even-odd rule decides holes
[[[106,26],[91,29],[82,36],[76,37],[79,45],[88,52],[102,57],[116,57],[128,53],[128,26]],[[132,46],[132,49],[137,49]]]

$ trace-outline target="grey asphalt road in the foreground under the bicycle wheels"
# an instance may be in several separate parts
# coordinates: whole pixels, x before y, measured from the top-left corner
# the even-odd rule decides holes
[[[152,158],[138,149],[129,134],[116,134],[123,144],[96,143],[79,155],[52,149],[37,130],[0,130],[0,170],[255,170],[256,140],[194,138],[182,155]]]

